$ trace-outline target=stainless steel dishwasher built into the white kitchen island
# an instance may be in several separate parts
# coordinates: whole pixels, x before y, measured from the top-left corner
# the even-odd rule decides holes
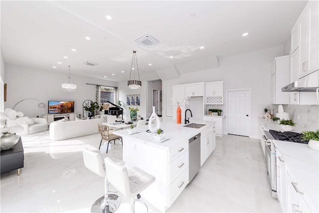
[[[189,151],[189,183],[200,169],[200,133],[188,140],[188,151]]]

